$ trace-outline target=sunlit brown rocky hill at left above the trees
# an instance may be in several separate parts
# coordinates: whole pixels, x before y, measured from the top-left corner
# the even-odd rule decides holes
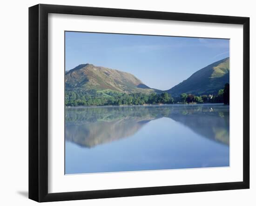
[[[66,90],[114,90],[121,93],[152,93],[134,75],[92,64],[81,64],[65,73]]]

